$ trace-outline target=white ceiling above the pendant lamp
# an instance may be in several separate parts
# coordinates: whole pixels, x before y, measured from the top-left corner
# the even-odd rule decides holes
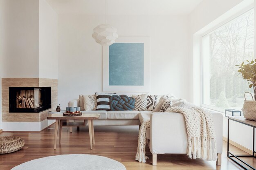
[[[105,0],[46,0],[59,13],[103,15]],[[203,0],[107,0],[108,15],[186,15]]]

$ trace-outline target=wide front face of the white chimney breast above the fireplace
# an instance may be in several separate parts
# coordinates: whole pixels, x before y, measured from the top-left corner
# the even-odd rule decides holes
[[[38,77],[38,0],[1,0],[2,77]]]

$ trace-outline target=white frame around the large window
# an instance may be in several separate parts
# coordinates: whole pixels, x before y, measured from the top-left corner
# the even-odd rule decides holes
[[[202,33],[200,35],[200,60],[201,60],[201,74],[200,74],[200,77],[201,77],[201,91],[200,91],[200,102],[201,102],[201,106],[204,107],[204,108],[208,108],[208,109],[211,109],[211,110],[216,110],[218,112],[222,112],[224,113],[225,112],[225,109],[224,108],[218,108],[218,107],[215,107],[215,106],[211,106],[211,105],[208,105],[208,104],[204,104],[204,56],[203,56],[203,37],[205,35],[208,35],[210,33],[212,33],[213,31],[215,31],[216,29],[219,29],[220,27],[222,26],[225,26],[226,24],[228,24],[229,22],[232,22],[233,20],[235,20],[236,18],[240,17],[241,15],[247,13],[248,11],[254,9],[254,5],[250,5],[249,7],[247,8],[244,8],[242,9],[241,11],[237,12],[236,14],[232,15],[231,17],[227,18],[226,20],[224,20],[223,22],[219,23],[219,24],[216,24],[215,26],[213,26],[211,29],[208,29],[207,31],[205,31],[204,33]],[[255,27],[255,20],[256,20],[256,15],[255,15],[255,10],[254,10],[254,43],[255,43],[255,31],[256,31],[256,27]],[[255,47],[255,45],[254,45]],[[255,52],[255,48],[254,48],[254,52]],[[254,59],[256,59],[256,56],[255,56],[255,53],[254,53]]]

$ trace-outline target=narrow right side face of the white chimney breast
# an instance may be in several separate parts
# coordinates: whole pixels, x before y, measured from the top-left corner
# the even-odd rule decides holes
[[[39,77],[58,79],[58,16],[39,0]]]

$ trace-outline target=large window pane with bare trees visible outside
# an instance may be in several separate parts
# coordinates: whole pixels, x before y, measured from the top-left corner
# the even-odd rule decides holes
[[[238,75],[235,65],[254,60],[254,10],[204,35],[202,40],[203,106],[241,109],[244,93],[253,89]]]

